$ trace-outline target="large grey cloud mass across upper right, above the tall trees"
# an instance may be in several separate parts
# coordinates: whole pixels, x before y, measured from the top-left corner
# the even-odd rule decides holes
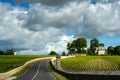
[[[28,11],[29,18],[24,26],[33,31],[48,27],[66,30],[69,28],[73,29],[75,36],[88,38],[102,34],[111,35],[119,32],[119,9],[118,2],[111,4],[72,2],[59,10],[39,3],[31,4]]]

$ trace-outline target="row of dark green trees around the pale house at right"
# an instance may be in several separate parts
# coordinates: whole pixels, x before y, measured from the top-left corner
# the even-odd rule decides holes
[[[87,40],[85,38],[77,38],[67,43],[67,50],[68,54],[86,53],[89,55],[97,55],[96,50],[104,46],[104,43],[99,42],[97,38],[93,38],[90,40],[90,48],[87,48]],[[108,46],[106,51],[109,55],[120,55],[120,45],[115,47]]]

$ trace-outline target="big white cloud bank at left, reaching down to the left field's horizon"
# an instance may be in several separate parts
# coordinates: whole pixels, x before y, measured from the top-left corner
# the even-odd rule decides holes
[[[0,4],[0,49],[14,48],[19,54],[46,54],[53,50],[50,46],[56,46],[54,49],[57,52],[65,49],[69,36],[63,41],[64,38],[61,37],[64,33],[61,30],[54,27],[46,29],[42,27],[40,31],[29,30],[23,26],[28,20],[28,11],[6,5]]]

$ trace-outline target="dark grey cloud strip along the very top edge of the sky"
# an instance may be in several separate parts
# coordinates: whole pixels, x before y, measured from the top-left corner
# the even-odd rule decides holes
[[[16,3],[27,2],[27,3],[41,3],[46,6],[63,6],[69,2],[83,2],[88,1],[90,3],[114,3],[120,0],[14,0]]]

